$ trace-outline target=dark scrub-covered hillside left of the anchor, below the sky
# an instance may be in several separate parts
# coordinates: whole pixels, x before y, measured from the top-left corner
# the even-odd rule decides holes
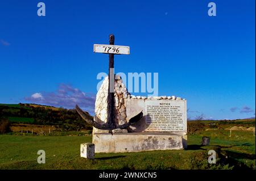
[[[93,117],[90,117],[93,119]],[[40,104],[0,104],[0,120],[10,123],[55,125],[64,131],[92,129],[76,110],[67,110]]]

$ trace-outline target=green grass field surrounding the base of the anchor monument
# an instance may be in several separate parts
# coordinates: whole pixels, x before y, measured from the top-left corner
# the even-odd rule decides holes
[[[210,145],[200,146],[209,136]],[[139,153],[96,154],[80,157],[80,144],[91,136],[0,135],[0,169],[254,169],[253,132],[204,131],[188,136],[187,150],[158,150]],[[217,164],[208,163],[208,151],[215,150]],[[46,151],[46,164],[37,163],[38,150]]]

